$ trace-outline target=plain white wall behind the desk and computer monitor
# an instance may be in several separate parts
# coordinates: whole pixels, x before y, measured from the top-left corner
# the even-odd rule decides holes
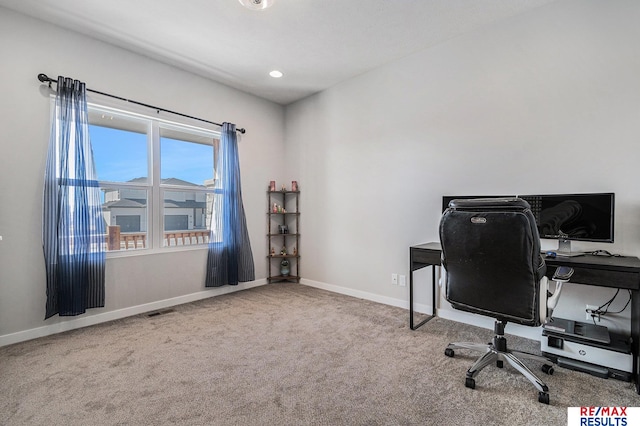
[[[637,1],[558,2],[288,106],[305,282],[408,306],[391,274],[455,194],[613,191],[615,244],[574,248],[640,255],[638,22]],[[557,314],[578,320],[613,294],[568,287]]]

